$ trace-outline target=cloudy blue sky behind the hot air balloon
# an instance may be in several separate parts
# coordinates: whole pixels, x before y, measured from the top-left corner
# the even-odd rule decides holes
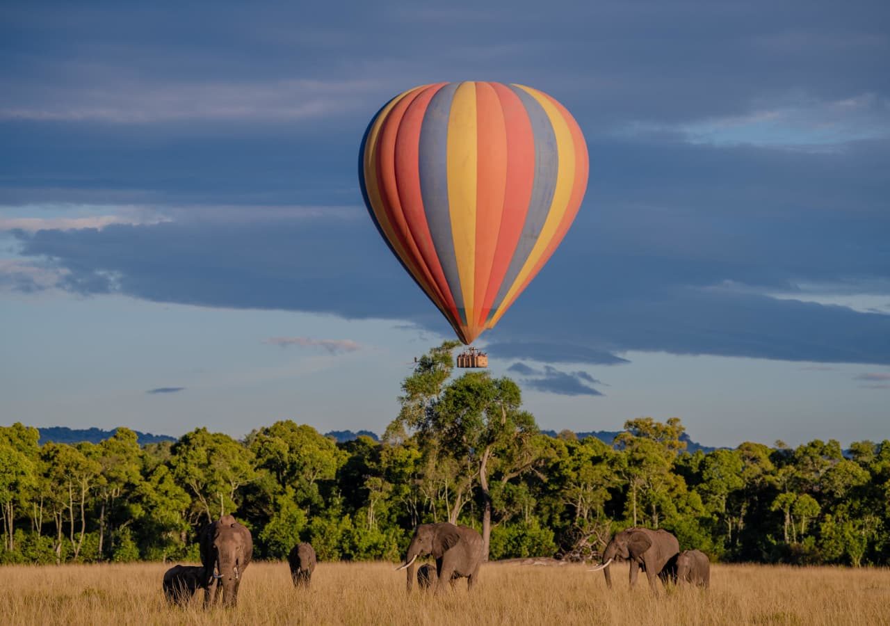
[[[542,427],[890,437],[886,3],[208,6],[0,8],[3,423],[381,431],[449,327],[360,137],[477,79],[554,95],[590,152],[481,337]]]

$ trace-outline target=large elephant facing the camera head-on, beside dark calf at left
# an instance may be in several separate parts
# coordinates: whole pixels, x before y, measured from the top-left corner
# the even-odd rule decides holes
[[[232,516],[222,516],[207,524],[200,536],[201,563],[204,564],[204,606],[223,598],[225,606],[238,604],[241,577],[254,554],[250,531]]]

